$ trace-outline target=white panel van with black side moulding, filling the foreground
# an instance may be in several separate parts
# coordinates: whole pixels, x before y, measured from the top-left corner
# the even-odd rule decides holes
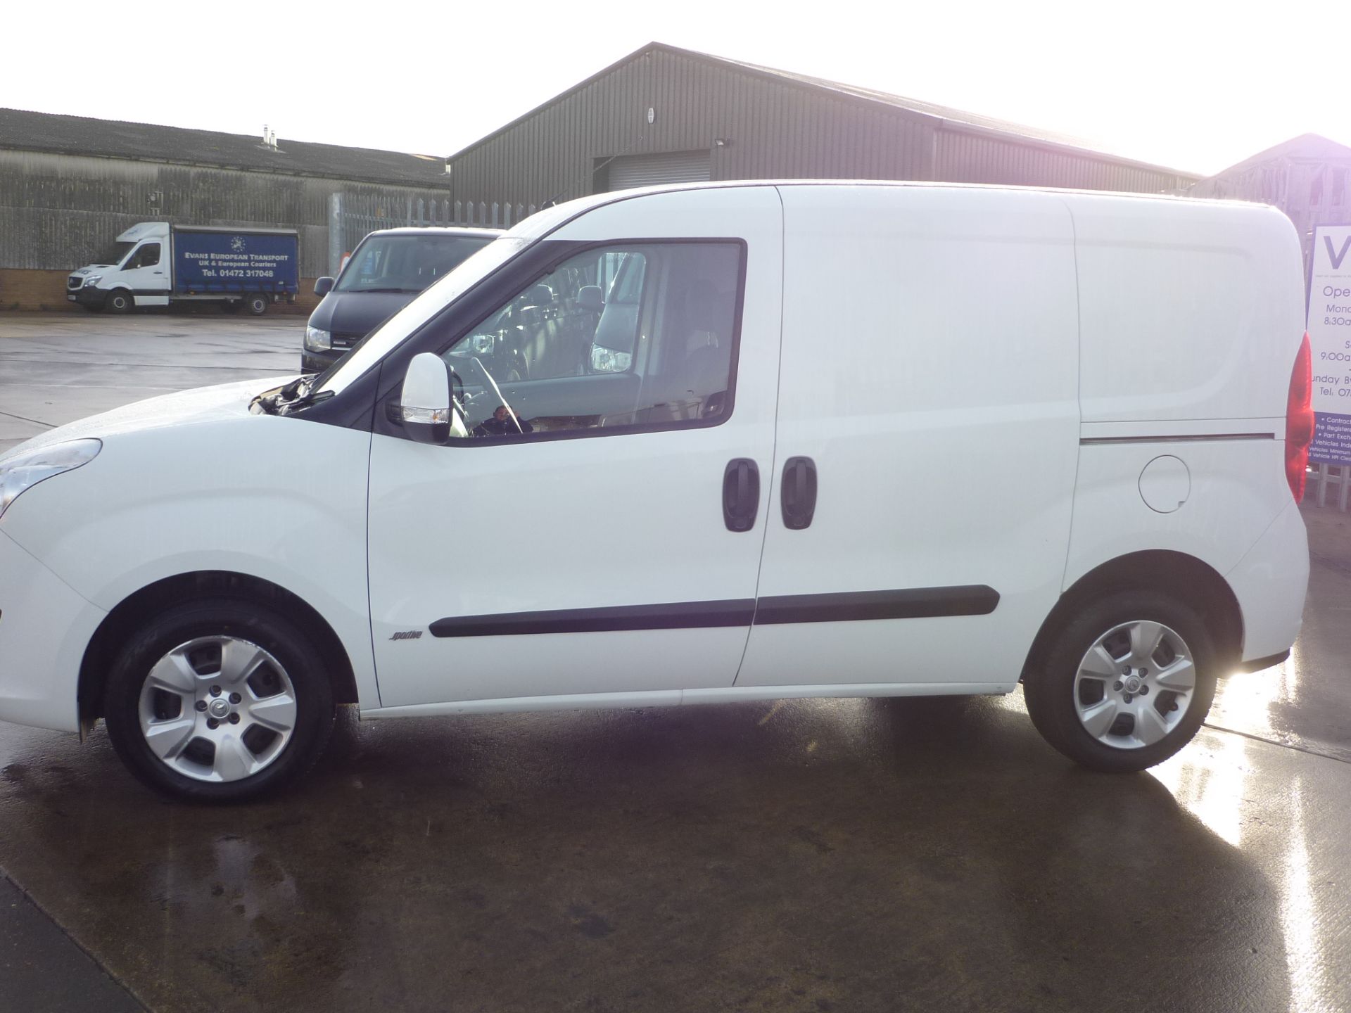
[[[335,704],[1021,682],[1056,750],[1142,770],[1298,633],[1302,330],[1298,240],[1266,207],[573,201],[326,373],[0,458],[0,719],[101,717],[150,786],[238,800],[304,771]]]

